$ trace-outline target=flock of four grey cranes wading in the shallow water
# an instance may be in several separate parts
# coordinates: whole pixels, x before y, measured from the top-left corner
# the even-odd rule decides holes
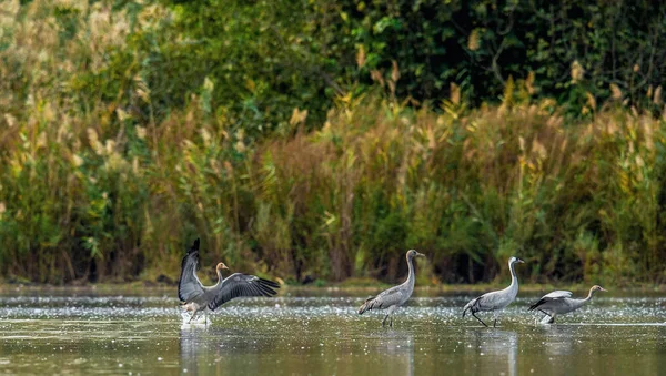
[[[204,286],[196,276],[199,265],[199,238],[194,241],[188,253],[183,257],[181,265],[181,275],[178,284],[178,296],[181,301],[181,306],[185,312],[191,312],[188,323],[196,318],[199,313],[203,313],[205,323],[208,324],[208,313],[215,311],[224,303],[236,297],[265,296],[271,297],[278,294],[275,291],[280,288],[280,284],[273,281],[264,280],[255,275],[233,273],[226,278],[222,276],[222,271],[229,270],[224,263],[218,263],[215,273],[218,274],[218,283],[213,286]],[[403,306],[414,292],[416,274],[414,272],[414,257],[425,257],[424,254],[416,250],[407,251],[405,255],[407,260],[408,274],[407,280],[394,287],[383,291],[376,296],[371,296],[359,307],[359,315],[367,311],[385,309],[382,326],[385,326],[386,319],[390,319],[389,326],[393,327],[393,314]],[[476,316],[480,312],[491,312],[493,314],[493,327],[497,325],[497,317],[504,308],[512,304],[518,295],[518,277],[515,272],[515,265],[522,264],[524,261],[517,257],[508,260],[508,268],[511,271],[511,284],[508,287],[500,291],[490,292],[478,297],[473,298],[463,307],[463,317],[470,313],[485,327],[488,325]],[[589,289],[586,298],[572,298],[572,293],[567,291],[554,291],[544,295],[538,302],[529,306],[527,311],[539,312],[544,314],[542,324],[555,323],[557,315],[564,315],[574,312],[587,304],[596,292],[606,292],[602,286],[594,285]]]

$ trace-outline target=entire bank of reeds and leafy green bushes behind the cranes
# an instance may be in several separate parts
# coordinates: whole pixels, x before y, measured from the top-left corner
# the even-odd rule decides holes
[[[392,283],[416,248],[427,256],[417,286],[504,281],[513,255],[528,284],[666,283],[666,59],[647,58],[666,51],[649,38],[663,18],[632,29],[643,44],[617,40],[627,60],[612,61],[610,79],[606,54],[493,58],[487,45],[532,51],[533,37],[493,44],[505,38],[487,34],[494,23],[474,22],[505,13],[452,6],[472,26],[446,39],[470,64],[451,69],[485,72],[490,57],[494,70],[421,92],[410,88],[434,68],[381,43],[396,38],[383,34],[391,22],[416,22],[407,10],[314,1],[323,8],[295,13],[303,23],[289,18],[299,2],[216,7],[228,3],[238,22],[220,29],[169,1],[3,3],[2,281],[178,281],[201,237],[202,280],[224,261],[289,285]],[[371,22],[373,12],[393,18]],[[275,17],[276,30],[252,29]],[[329,30],[367,41],[335,45]],[[551,63],[555,73],[538,68]]]

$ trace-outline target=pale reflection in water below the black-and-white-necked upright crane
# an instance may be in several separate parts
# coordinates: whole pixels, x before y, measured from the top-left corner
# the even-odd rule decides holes
[[[474,329],[467,331],[471,343],[466,346],[474,363],[481,366],[484,375],[496,374],[506,369],[506,374],[515,376],[518,362],[518,336],[513,331]],[[503,370],[501,370],[503,373]]]

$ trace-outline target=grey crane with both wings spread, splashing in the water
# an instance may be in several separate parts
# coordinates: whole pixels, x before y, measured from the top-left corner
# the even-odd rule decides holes
[[[260,278],[255,275],[234,273],[226,278],[222,277],[222,270],[229,270],[224,263],[215,267],[218,283],[213,286],[204,286],[196,276],[199,265],[199,238],[183,257],[181,276],[178,282],[178,297],[181,299],[185,311],[191,311],[192,316],[203,311],[206,318],[206,309],[215,311],[222,304],[241,296],[273,296],[278,294],[274,288],[280,285],[273,281]]]

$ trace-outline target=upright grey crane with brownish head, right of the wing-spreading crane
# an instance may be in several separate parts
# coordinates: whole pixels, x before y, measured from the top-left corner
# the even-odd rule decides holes
[[[413,260],[416,256],[424,257],[425,255],[416,252],[415,250],[407,251],[407,266],[410,267],[410,274],[407,275],[407,281],[405,281],[402,285],[397,285],[391,287],[377,296],[369,297],[365,303],[359,308],[359,315],[363,315],[365,311],[372,309],[389,309],[386,316],[382,321],[382,327],[386,325],[386,318],[391,317],[391,322],[389,326],[393,327],[393,313],[397,307],[405,304],[410,296],[412,296],[412,292],[414,292],[414,264]]]

